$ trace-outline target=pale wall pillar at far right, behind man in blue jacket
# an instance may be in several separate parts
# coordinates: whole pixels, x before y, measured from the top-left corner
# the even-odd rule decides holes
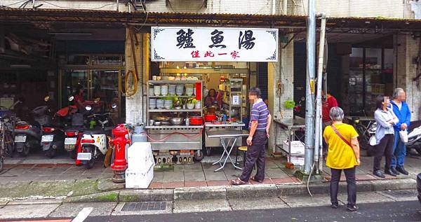
[[[397,36],[398,40],[398,78],[396,79],[396,87],[406,90],[406,102],[412,111],[412,120],[421,120],[421,81],[417,83],[413,78],[417,75],[417,64],[413,60],[419,55],[420,39],[413,39],[409,34],[401,34]]]

